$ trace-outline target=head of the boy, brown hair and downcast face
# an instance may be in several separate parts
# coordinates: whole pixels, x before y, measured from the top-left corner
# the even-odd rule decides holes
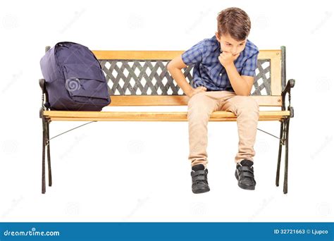
[[[245,49],[251,28],[247,13],[240,8],[226,8],[218,13],[217,24],[216,39],[221,43],[221,50],[240,54]]]

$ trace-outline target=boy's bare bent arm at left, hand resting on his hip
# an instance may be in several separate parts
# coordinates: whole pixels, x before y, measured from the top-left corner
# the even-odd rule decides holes
[[[206,87],[197,87],[194,89],[185,79],[185,75],[182,73],[182,69],[187,67],[183,62],[183,59],[180,56],[177,56],[171,60],[167,65],[167,70],[171,73],[175,82],[178,83],[178,86],[183,90],[187,97],[192,97],[197,92],[206,91]]]

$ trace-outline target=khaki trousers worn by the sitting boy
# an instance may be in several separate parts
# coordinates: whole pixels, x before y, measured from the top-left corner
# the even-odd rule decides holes
[[[188,101],[189,160],[191,166],[208,163],[208,121],[214,111],[230,111],[237,116],[239,147],[235,163],[243,159],[253,160],[256,128],[259,121],[259,104],[252,97],[236,95],[235,92],[209,91],[194,94]],[[228,140],[225,140],[228,142]]]

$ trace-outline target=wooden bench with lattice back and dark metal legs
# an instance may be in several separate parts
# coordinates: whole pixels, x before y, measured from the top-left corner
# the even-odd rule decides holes
[[[46,50],[48,50],[47,47]],[[111,95],[110,106],[187,106],[188,97],[178,87],[166,68],[171,59],[183,51],[93,51],[106,75]],[[183,69],[185,78],[192,82],[192,68]],[[46,191],[45,168],[48,160],[49,186],[51,179],[51,155],[49,124],[52,121],[187,121],[183,111],[50,111],[45,103],[45,81],[42,87],[42,193]],[[282,147],[285,146],[285,175],[283,192],[287,193],[287,163],[289,121],[293,117],[290,106],[290,89],[295,80],[286,81],[285,47],[278,50],[261,50],[256,68],[252,97],[260,106],[259,121],[280,121],[280,137],[276,186],[279,185]],[[288,102],[285,97],[288,95]],[[261,106],[273,109],[262,111]],[[276,108],[275,108],[276,107]],[[268,107],[266,107],[268,109]],[[209,121],[236,121],[236,116],[227,111],[215,111]],[[85,125],[85,124],[84,124]]]

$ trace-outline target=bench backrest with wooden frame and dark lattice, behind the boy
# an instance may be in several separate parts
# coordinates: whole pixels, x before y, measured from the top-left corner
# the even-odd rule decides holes
[[[111,95],[110,106],[183,106],[188,97],[166,68],[183,51],[93,51],[101,63]],[[192,83],[192,68],[183,73]],[[252,96],[260,106],[282,106],[285,47],[260,50]]]

